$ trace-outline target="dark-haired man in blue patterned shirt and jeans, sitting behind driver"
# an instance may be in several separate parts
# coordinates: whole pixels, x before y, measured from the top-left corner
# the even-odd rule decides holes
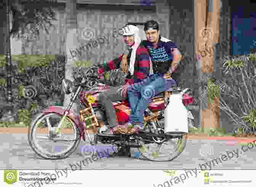
[[[152,97],[170,88],[171,85],[176,85],[176,81],[170,78],[181,60],[176,43],[159,35],[156,21],[146,22],[144,31],[147,40],[142,41],[142,44],[149,50],[154,74],[128,88],[131,116],[125,128],[133,126],[136,132],[144,130],[144,111]]]

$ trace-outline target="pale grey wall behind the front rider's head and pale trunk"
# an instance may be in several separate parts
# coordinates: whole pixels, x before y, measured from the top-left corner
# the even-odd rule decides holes
[[[22,42],[22,53],[24,54],[66,55],[65,5],[59,3],[53,9],[56,12],[57,20],[52,22],[54,26],[49,28],[49,35],[45,31],[40,31],[40,35],[36,38],[31,36],[27,41],[13,40],[13,46],[18,46],[18,42]],[[77,9],[79,46],[90,45],[91,41],[98,41],[99,38],[105,38],[105,41],[96,47],[89,46],[88,49],[84,47],[83,50],[74,49],[72,54],[79,53],[82,55],[81,60],[92,61],[93,63],[112,60],[125,49],[122,37],[117,33],[118,29],[128,22],[157,20],[156,15],[155,6],[80,5]],[[168,19],[164,19],[160,24],[168,25],[166,20],[168,21]]]

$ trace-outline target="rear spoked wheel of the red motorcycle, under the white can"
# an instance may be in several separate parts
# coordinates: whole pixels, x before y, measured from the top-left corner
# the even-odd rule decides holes
[[[162,129],[158,129],[158,132]],[[171,161],[178,157],[184,150],[187,143],[188,134],[183,134],[176,137],[163,138],[154,137],[150,143],[139,141],[139,151],[141,155],[148,160],[155,162]]]

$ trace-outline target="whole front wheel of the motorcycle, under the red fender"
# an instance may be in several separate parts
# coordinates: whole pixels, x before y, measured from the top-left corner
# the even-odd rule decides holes
[[[61,117],[58,113],[41,113],[32,120],[28,135],[29,144],[40,157],[64,159],[78,147],[81,138],[72,119],[66,117],[60,131],[54,131],[53,127],[58,125]]]

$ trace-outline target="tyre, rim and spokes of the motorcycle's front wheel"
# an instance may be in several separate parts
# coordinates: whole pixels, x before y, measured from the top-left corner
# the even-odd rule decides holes
[[[72,137],[70,140],[70,146],[64,150],[64,151],[60,151],[60,152],[49,152],[47,151],[48,147],[51,147],[51,149],[54,148],[54,150],[56,150],[56,146],[59,146],[58,148],[61,149],[63,146],[61,145],[57,145],[56,142],[54,142],[54,140],[51,140],[47,134],[45,134],[45,137],[41,135],[41,139],[43,139],[44,143],[46,144],[46,141],[50,141],[51,145],[46,144],[48,147],[46,148],[46,150],[43,149],[43,147],[45,146],[40,146],[36,140],[35,134],[37,132],[37,126],[42,126],[42,127],[38,127],[41,129],[38,130],[44,130],[44,132],[47,133],[47,128],[49,125],[49,121],[54,121],[54,120],[49,120],[50,117],[53,117],[54,119],[57,117],[59,117],[59,119],[61,119],[62,115],[58,114],[58,113],[40,113],[37,116],[35,116],[35,118],[31,121],[31,125],[30,125],[30,131],[28,134],[28,140],[29,140],[29,145],[32,148],[32,150],[40,157],[45,158],[45,159],[51,159],[51,160],[56,160],[56,159],[65,159],[67,157],[69,157],[78,147],[81,138],[80,138],[80,133],[79,133],[79,128],[75,125],[74,121],[72,119],[70,119],[68,116],[66,117],[66,119],[71,122],[70,125],[72,125],[72,127],[70,128],[70,130],[72,130]],[[56,117],[57,116],[57,117]],[[48,118],[48,119],[47,119]],[[48,123],[47,125],[45,125],[42,121],[46,120],[46,123]],[[43,125],[42,125],[43,124]],[[52,127],[54,126],[54,124],[50,124]],[[56,125],[56,122],[55,122]],[[42,134],[42,133],[40,133]],[[61,135],[62,136],[62,135]],[[48,138],[47,138],[48,137]],[[62,140],[64,138],[56,138],[55,140]],[[66,138],[67,140],[67,138]],[[63,143],[63,141],[60,141]],[[50,148],[49,148],[50,149]]]

